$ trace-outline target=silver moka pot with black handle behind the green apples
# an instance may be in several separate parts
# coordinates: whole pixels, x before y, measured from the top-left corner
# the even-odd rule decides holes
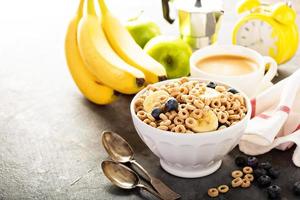
[[[175,20],[170,17],[169,1],[162,0],[163,15],[172,24]],[[174,4],[178,14],[181,38],[193,49],[212,44],[223,11],[213,6],[205,6],[201,0],[176,0]]]

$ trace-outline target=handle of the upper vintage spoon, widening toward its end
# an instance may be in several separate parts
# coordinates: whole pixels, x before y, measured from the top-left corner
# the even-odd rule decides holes
[[[138,168],[139,171],[143,172],[141,175],[146,181],[148,181],[153,188],[164,197],[164,199],[175,200],[179,199],[181,196],[174,192],[171,188],[169,188],[166,184],[164,184],[158,178],[151,176],[138,162],[135,160],[131,160],[130,163],[134,166],[134,168]],[[139,173],[140,174],[140,173]]]

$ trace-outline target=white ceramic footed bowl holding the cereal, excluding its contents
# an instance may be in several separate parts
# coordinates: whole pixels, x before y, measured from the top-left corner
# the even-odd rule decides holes
[[[190,80],[208,81],[200,78],[190,78]],[[154,86],[171,81],[173,80],[159,82]],[[134,112],[134,102],[144,91],[145,89],[136,94],[130,105],[134,126],[145,144],[160,158],[162,168],[179,177],[202,177],[218,170],[222,158],[238,144],[250,120],[250,100],[241,92],[246,99],[248,112],[237,124],[222,130],[199,134],[163,131],[147,125]]]

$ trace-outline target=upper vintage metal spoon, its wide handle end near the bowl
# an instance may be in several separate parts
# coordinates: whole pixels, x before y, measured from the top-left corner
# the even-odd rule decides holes
[[[151,183],[154,189],[165,199],[175,200],[181,197],[162,181],[151,176],[139,163],[134,160],[134,152],[131,146],[120,135],[111,131],[104,131],[102,133],[102,144],[114,161],[121,163],[130,162],[133,167],[139,169],[139,171],[143,173],[142,177]]]

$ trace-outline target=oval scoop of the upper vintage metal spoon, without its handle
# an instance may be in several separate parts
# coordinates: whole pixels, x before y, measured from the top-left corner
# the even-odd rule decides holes
[[[116,162],[126,163],[133,159],[133,150],[130,145],[118,134],[111,131],[102,133],[102,144]]]

